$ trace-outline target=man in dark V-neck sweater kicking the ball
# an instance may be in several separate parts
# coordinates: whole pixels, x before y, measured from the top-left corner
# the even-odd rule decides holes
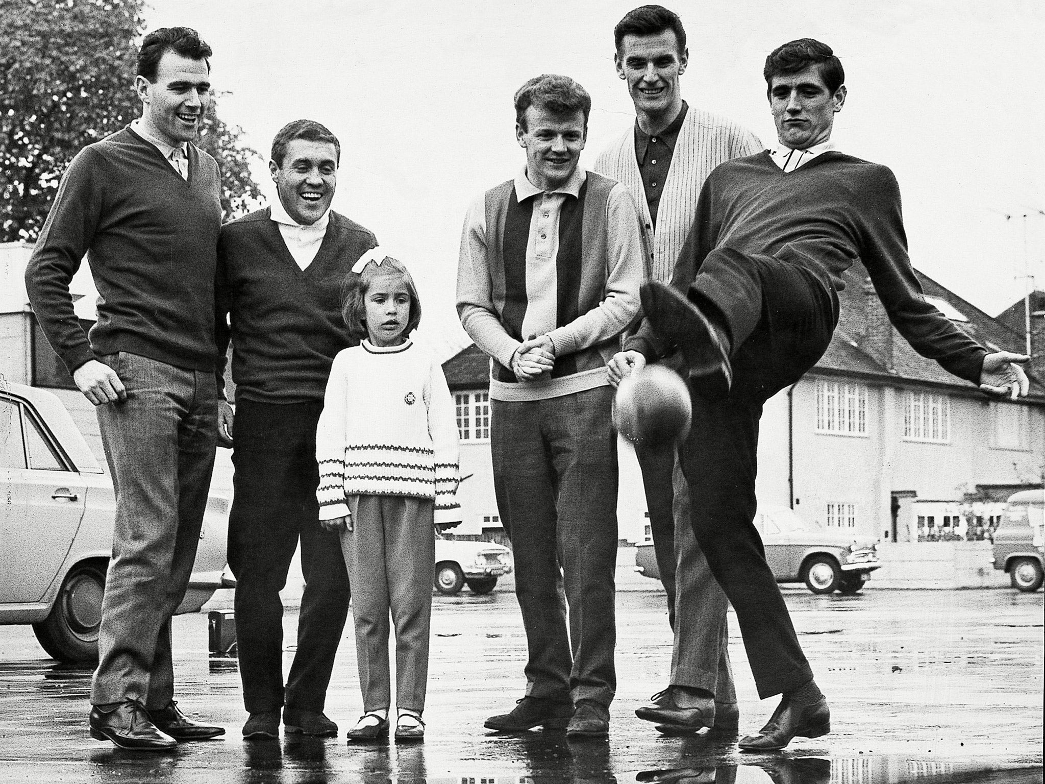
[[[647,322],[625,346],[636,367],[637,352],[677,346],[689,369],[693,432],[681,462],[694,533],[737,612],[759,696],[783,694],[766,725],[740,741],[749,752],[831,730],[752,520],[762,406],[827,349],[841,273],[859,259],[911,346],[988,393],[1026,394],[1014,363],[1028,360],[988,353],[923,299],[892,172],[831,141],[845,100],[831,48],[792,41],[767,57],[764,75],[780,145],[707,178],[671,285],[643,286]]]

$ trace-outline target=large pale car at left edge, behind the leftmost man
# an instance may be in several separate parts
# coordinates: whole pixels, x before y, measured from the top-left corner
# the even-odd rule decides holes
[[[98,659],[98,625],[116,508],[113,485],[62,401],[0,388],[0,624],[30,623],[63,662]],[[194,613],[224,577],[229,502],[207,503],[189,590]]]

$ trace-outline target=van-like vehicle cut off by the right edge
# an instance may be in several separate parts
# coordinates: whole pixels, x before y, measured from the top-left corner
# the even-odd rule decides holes
[[[1045,490],[1008,497],[994,531],[994,568],[1008,572],[1013,587],[1032,593],[1042,586],[1045,566]]]

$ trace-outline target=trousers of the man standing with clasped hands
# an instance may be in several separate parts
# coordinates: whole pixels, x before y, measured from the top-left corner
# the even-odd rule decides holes
[[[512,543],[529,649],[526,693],[534,697],[608,706],[617,691],[612,394],[597,387],[490,401],[493,487]]]

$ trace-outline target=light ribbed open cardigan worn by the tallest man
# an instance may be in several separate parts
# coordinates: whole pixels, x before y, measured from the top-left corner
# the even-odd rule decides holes
[[[693,226],[697,199],[707,175],[721,163],[763,148],[759,138],[747,129],[691,106],[675,141],[657,207],[656,231],[635,160],[634,125],[599,154],[593,170],[627,186],[642,216],[647,278],[660,282],[671,279],[675,260]]]

